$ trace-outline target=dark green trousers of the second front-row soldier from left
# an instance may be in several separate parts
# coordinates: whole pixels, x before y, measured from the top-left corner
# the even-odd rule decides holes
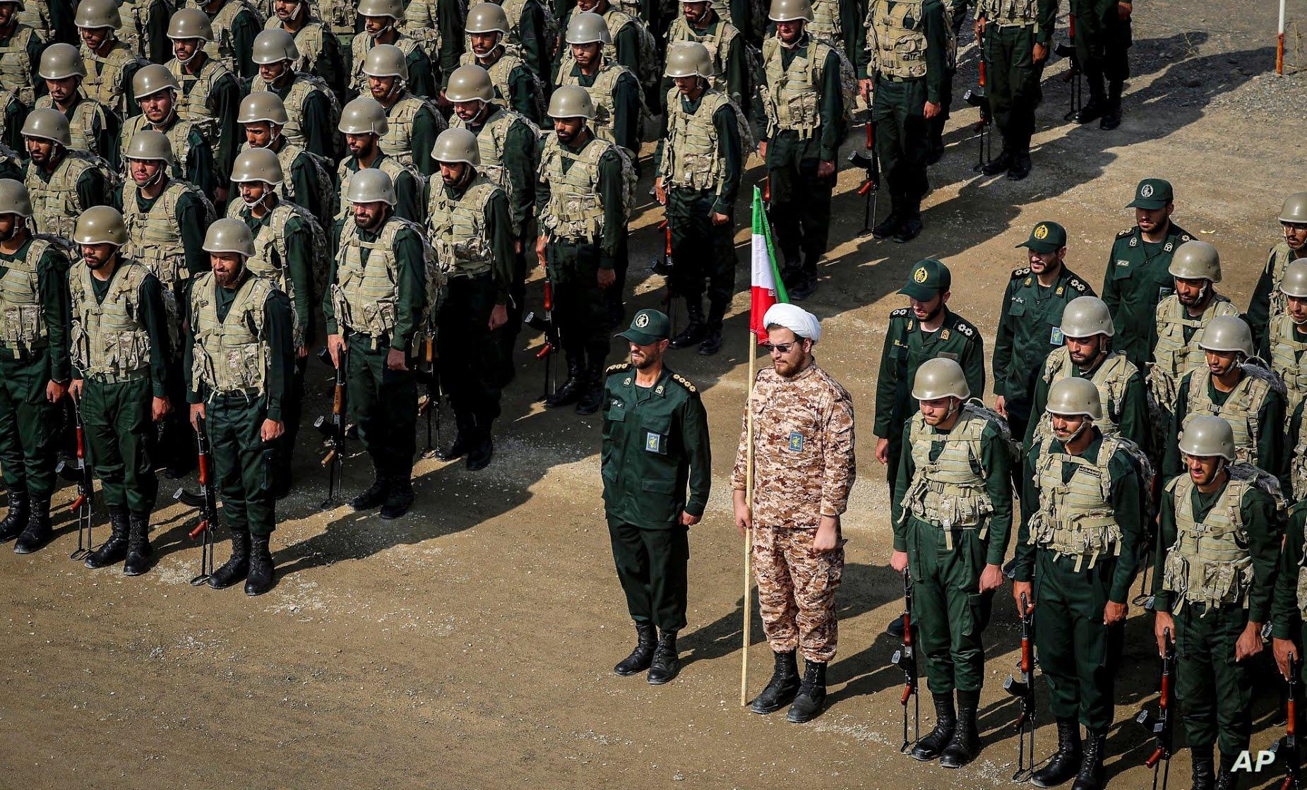
[[[149,452],[154,437],[152,400],[148,376],[115,383],[90,377],[82,383],[82,426],[90,465],[110,508],[133,513],[154,509],[159,482]]]

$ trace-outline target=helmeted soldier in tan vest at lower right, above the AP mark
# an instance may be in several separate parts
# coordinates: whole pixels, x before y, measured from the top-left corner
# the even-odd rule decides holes
[[[1280,486],[1236,460],[1235,434],[1230,422],[1210,414],[1185,426],[1179,452],[1188,474],[1171,479],[1162,494],[1153,560],[1153,629],[1158,654],[1166,652],[1167,632],[1176,645],[1175,699],[1196,790],[1234,790],[1238,783],[1234,765],[1252,733],[1256,670],[1248,659],[1263,649],[1277,571],[1289,572],[1294,586],[1298,577],[1298,568],[1278,567]],[[1302,534],[1293,546],[1300,548]],[[1213,770],[1213,744],[1219,772]]]

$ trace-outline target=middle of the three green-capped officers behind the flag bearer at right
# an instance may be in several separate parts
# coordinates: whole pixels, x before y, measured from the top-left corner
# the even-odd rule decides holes
[[[1017,247],[1030,251],[1030,265],[1012,273],[1002,295],[993,394],[1012,435],[1025,436],[1044,358],[1063,345],[1063,309],[1077,296],[1093,296],[1094,289],[1067,268],[1067,230],[1056,222],[1035,223]]]

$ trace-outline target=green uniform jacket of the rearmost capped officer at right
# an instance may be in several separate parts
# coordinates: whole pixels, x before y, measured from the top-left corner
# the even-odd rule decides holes
[[[1192,239],[1171,222],[1166,238],[1157,244],[1145,242],[1137,226],[1116,234],[1112,243],[1103,276],[1103,302],[1112,311],[1116,325],[1116,350],[1141,371],[1153,362],[1149,338],[1157,330],[1157,303],[1175,290],[1175,278],[1167,270],[1171,256],[1176,247]]]

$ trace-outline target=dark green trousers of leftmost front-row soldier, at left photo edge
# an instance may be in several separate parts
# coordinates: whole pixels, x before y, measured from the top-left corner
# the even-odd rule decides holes
[[[26,488],[35,499],[55,491],[59,406],[46,401],[50,353],[33,349],[16,359],[0,347],[0,467],[9,490]]]

